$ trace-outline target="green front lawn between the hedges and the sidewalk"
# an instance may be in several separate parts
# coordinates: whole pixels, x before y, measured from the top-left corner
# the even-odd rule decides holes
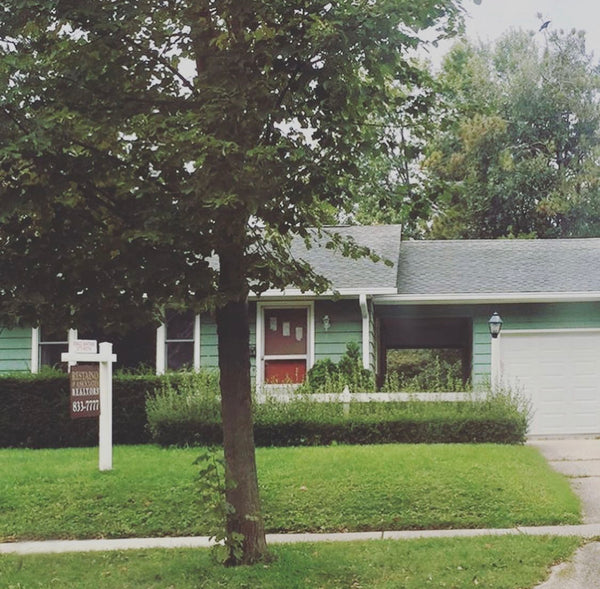
[[[207,535],[198,449],[0,450],[0,541]],[[580,521],[530,447],[383,445],[257,451],[268,531],[510,527]]]

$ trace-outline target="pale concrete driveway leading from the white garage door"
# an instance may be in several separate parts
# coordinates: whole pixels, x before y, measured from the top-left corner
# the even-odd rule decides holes
[[[584,523],[600,523],[600,439],[531,440],[558,472],[569,477],[581,498]],[[573,560],[554,567],[536,589],[597,589],[600,587],[600,542],[580,548]]]

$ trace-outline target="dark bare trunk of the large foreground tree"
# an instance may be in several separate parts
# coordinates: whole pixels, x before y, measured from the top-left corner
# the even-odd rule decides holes
[[[221,293],[239,293],[239,297],[217,310],[226,500],[233,508],[227,517],[227,537],[235,539],[241,534],[243,538],[241,554],[234,543],[228,565],[268,558],[254,452],[248,287],[242,272],[243,253],[238,254],[219,252]]]

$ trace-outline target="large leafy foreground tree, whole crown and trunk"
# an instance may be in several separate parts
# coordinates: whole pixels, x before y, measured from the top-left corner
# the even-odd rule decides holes
[[[230,563],[265,557],[250,285],[349,209],[366,124],[455,0],[21,0],[0,10],[0,320],[119,326],[216,310]],[[396,81],[396,83],[394,83]],[[381,146],[379,146],[381,148]],[[360,248],[334,247],[359,255]],[[218,259],[218,265],[212,262]]]

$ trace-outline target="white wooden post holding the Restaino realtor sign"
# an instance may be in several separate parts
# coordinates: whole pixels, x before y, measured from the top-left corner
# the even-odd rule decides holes
[[[69,365],[77,362],[100,363],[100,423],[99,458],[100,470],[112,470],[112,365],[117,361],[112,344],[102,342],[96,353],[96,341],[74,340],[69,351],[61,354],[61,360]]]

